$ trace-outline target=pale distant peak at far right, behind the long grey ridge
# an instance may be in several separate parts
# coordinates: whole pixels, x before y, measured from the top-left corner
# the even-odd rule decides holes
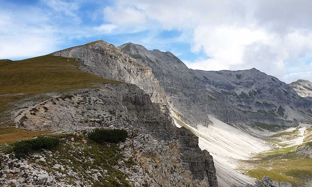
[[[308,80],[299,79],[289,84],[299,96],[312,98],[312,82]]]

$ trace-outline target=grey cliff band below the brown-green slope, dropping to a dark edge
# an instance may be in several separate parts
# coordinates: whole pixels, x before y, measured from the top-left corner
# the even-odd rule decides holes
[[[82,127],[129,128],[149,135],[155,141],[163,141],[163,144],[175,142],[174,144],[179,144],[176,150],[178,153],[169,152],[174,158],[169,156],[165,158],[170,163],[170,159],[175,160],[179,156],[181,164],[179,167],[184,168],[183,172],[190,171],[186,173],[188,177],[185,180],[191,181],[187,186],[196,183],[199,186],[217,187],[212,156],[198,147],[198,137],[186,128],[175,127],[171,117],[162,113],[159,107],[151,102],[150,96],[133,84],[105,84],[99,89],[78,90],[30,106],[25,111],[18,122],[27,130],[61,130]],[[144,146],[149,147],[149,145]],[[164,150],[159,148],[159,151]],[[165,158],[163,161],[166,161]],[[150,172],[154,173],[154,171],[164,173],[166,178],[169,177],[168,179],[171,180],[172,175],[167,175],[164,168]],[[158,181],[157,178],[153,180]],[[167,180],[161,182],[164,180],[165,178],[160,180],[158,185],[153,184],[171,186],[166,185]],[[174,184],[174,181],[170,184]]]

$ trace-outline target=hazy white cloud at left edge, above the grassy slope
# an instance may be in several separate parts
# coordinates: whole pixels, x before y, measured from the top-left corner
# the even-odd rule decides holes
[[[46,19],[45,14],[37,9],[28,9],[28,11],[30,13],[14,14],[6,10],[1,11],[0,59],[44,55],[55,49],[58,40],[53,35],[54,28],[42,24]],[[28,21],[27,18],[32,18],[29,15],[34,18]],[[29,27],[29,25],[33,26]]]

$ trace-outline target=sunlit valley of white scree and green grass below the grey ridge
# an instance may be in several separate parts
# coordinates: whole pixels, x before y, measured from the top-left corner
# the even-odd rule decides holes
[[[312,139],[309,124],[300,124],[280,132],[266,130],[259,132],[259,137],[251,136],[253,129],[241,129],[209,116],[213,125],[193,128],[172,115],[178,127],[184,126],[199,137],[201,149],[209,150],[215,161],[218,184],[220,187],[253,184],[264,175],[276,181],[290,182],[293,186],[309,187],[307,182],[312,177],[312,159],[298,155],[300,145]],[[251,127],[250,127],[251,128]],[[312,154],[312,153],[311,153]]]

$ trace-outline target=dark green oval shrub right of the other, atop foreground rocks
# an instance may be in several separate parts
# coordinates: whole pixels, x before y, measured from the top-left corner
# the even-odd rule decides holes
[[[90,140],[104,143],[104,142],[120,142],[125,141],[128,137],[128,133],[125,130],[120,129],[95,129],[93,132],[88,133]]]

